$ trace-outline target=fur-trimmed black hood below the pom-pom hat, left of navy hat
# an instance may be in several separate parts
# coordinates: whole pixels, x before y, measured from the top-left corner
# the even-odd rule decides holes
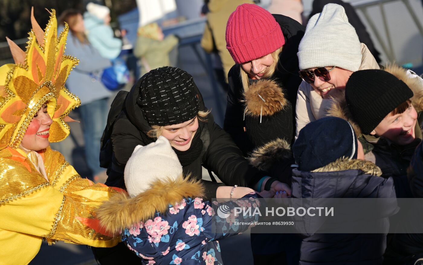
[[[291,157],[291,145],[289,145],[285,140],[277,138],[259,148],[256,148],[248,159],[253,167],[267,171],[277,161]]]

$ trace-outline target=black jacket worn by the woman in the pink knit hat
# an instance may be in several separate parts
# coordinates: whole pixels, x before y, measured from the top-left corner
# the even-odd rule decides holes
[[[289,114],[292,115],[292,125],[287,125],[284,128],[277,128],[288,130],[288,134],[292,135],[291,139],[286,139],[289,144],[293,141],[295,128],[295,103],[297,101],[297,91],[301,78],[298,71],[298,45],[304,36],[305,27],[299,24],[294,19],[288,16],[273,14],[276,21],[279,23],[282,34],[285,37],[285,44],[282,52],[279,54],[279,62],[277,71],[273,74],[270,80],[274,80],[276,84],[283,89],[284,97],[289,101]],[[240,65],[234,65],[228,74],[229,91],[228,104],[226,106],[225,121],[223,128],[227,131],[235,141],[236,145],[247,156],[257,146],[249,139],[247,133],[244,131],[246,126],[244,121],[244,89],[240,79]],[[289,115],[287,113],[287,115]],[[270,124],[269,122],[267,122]],[[261,135],[263,142],[275,140],[269,139],[268,135]],[[250,137],[251,138],[251,137]]]

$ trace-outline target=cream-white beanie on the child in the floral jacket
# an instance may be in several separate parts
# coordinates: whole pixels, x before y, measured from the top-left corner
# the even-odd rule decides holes
[[[135,197],[159,179],[176,180],[182,176],[182,166],[170,142],[160,136],[149,145],[137,145],[126,163],[124,179],[129,196]]]

